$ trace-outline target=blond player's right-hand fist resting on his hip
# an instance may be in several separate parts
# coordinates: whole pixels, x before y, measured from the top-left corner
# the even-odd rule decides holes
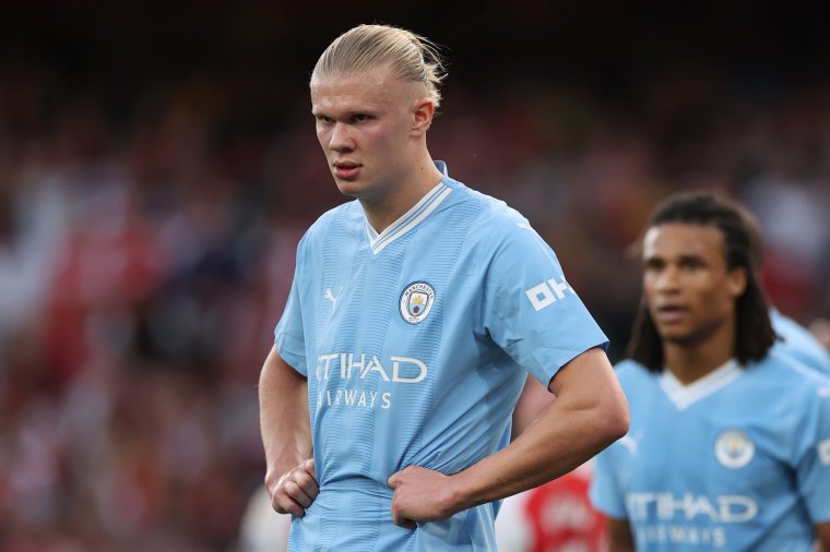
[[[392,521],[414,529],[416,521],[447,519],[461,508],[451,484],[452,478],[431,469],[408,466],[387,480],[392,495]]]

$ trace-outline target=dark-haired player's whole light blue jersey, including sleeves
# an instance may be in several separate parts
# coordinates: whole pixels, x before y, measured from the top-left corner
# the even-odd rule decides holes
[[[624,361],[628,434],[591,499],[643,551],[801,552],[830,520],[830,379],[772,352],[684,386]]]

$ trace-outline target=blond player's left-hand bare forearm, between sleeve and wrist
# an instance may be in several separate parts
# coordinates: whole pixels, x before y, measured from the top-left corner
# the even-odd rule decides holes
[[[307,385],[274,347],[262,367],[259,385],[268,478],[278,478],[311,456]]]

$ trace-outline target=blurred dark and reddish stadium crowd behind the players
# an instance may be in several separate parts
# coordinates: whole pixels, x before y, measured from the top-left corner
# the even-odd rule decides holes
[[[614,360],[627,248],[676,190],[744,200],[775,304],[828,316],[830,48],[806,5],[4,5],[0,549],[234,550],[295,244],[342,201],[307,80],[360,22],[446,47],[430,151],[531,219]]]

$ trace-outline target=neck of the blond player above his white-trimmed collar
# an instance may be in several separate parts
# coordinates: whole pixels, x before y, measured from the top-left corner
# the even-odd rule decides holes
[[[415,206],[429,191],[441,181],[443,175],[427,157],[418,164],[401,182],[390,187],[387,194],[376,197],[361,197],[366,219],[376,232],[381,233],[392,223],[401,218]]]

